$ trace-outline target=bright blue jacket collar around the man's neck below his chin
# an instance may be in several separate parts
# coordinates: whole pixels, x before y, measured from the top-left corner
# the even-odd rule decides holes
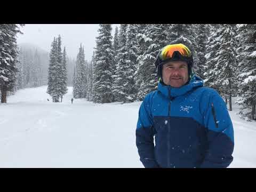
[[[158,82],[158,91],[160,91],[167,98],[175,98],[180,95],[186,94],[187,92],[196,89],[197,87],[203,86],[203,80],[200,77],[193,75],[188,84],[183,85],[179,88],[172,87],[170,85],[163,85]],[[170,95],[169,95],[170,94]]]

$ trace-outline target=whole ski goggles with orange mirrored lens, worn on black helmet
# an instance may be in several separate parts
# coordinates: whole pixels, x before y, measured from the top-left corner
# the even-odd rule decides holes
[[[176,53],[176,54],[173,54],[173,53]],[[177,56],[181,57],[180,59],[190,59],[192,57],[192,53],[187,46],[181,43],[167,45],[159,53],[159,59],[161,59],[162,61],[176,59]]]

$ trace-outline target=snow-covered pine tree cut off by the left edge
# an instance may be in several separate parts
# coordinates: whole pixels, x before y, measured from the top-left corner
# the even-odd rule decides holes
[[[24,25],[20,25],[24,26]],[[1,103],[6,103],[7,91],[13,91],[17,82],[17,33],[18,25],[0,25],[0,90]],[[22,34],[22,33],[21,33]]]

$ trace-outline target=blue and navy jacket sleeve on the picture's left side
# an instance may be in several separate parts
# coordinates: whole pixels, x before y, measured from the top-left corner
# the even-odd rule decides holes
[[[136,145],[140,161],[145,168],[158,167],[154,155],[154,134],[153,121],[149,110],[149,97],[145,97],[139,110],[139,118],[136,129]]]

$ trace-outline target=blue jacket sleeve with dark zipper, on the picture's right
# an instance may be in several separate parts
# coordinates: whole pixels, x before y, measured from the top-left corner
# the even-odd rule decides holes
[[[233,161],[234,130],[226,103],[214,90],[204,100],[204,126],[209,148],[202,168],[225,168]]]

